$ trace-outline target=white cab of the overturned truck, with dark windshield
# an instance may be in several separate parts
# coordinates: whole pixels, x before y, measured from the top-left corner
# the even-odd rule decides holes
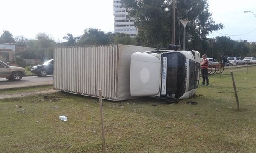
[[[198,51],[157,50],[131,55],[131,96],[186,99],[200,78]]]

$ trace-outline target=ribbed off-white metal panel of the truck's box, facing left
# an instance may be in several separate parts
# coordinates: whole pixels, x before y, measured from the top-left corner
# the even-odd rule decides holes
[[[54,89],[117,100],[118,45],[55,48]]]

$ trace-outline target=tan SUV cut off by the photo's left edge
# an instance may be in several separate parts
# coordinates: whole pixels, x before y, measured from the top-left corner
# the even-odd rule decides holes
[[[9,66],[5,62],[0,61],[0,78],[19,81],[25,74],[25,68]]]

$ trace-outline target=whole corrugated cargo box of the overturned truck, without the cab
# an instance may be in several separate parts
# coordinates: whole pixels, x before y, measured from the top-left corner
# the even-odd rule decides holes
[[[120,44],[55,48],[54,89],[93,97],[101,89],[103,99],[132,99],[131,54],[151,50]]]

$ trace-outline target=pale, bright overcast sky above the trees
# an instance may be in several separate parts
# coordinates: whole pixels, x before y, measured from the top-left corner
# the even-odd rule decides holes
[[[209,38],[228,36],[233,40],[256,42],[256,0],[208,0],[215,23],[225,28]],[[80,36],[87,28],[114,32],[113,0],[1,0],[0,34],[34,39],[44,32],[56,42],[67,33]]]

